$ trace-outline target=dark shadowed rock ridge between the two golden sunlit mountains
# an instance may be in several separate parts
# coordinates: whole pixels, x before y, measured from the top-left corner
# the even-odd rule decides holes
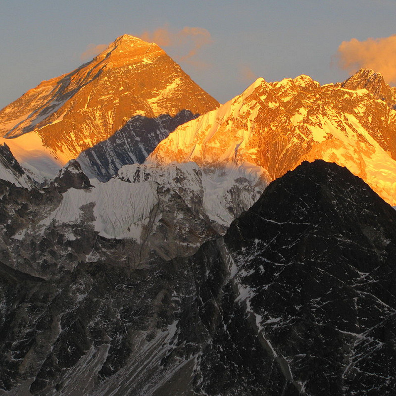
[[[198,115],[189,110],[182,110],[174,117],[168,114],[155,118],[137,115],[110,138],[81,152],[77,160],[85,174],[105,182],[122,166],[143,163],[170,132]]]

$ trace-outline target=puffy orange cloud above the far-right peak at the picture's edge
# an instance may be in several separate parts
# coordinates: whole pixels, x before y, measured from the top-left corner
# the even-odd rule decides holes
[[[350,74],[359,68],[380,72],[389,84],[396,83],[396,35],[365,41],[343,41],[337,51],[339,66]]]

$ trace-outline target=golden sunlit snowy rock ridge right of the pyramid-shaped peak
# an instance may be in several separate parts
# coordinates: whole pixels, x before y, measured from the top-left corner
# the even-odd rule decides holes
[[[258,79],[240,96],[181,125],[148,161],[247,162],[275,179],[304,159],[324,159],[347,166],[395,205],[396,111],[377,99],[389,94],[383,84],[364,71],[344,83],[349,89],[321,87],[303,75],[278,83]]]

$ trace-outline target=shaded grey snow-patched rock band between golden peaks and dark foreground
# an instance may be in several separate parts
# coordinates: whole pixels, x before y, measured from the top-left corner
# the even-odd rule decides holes
[[[10,173],[11,180],[0,180],[0,260],[48,278],[78,262],[115,259],[137,267],[154,253],[167,260],[192,254],[259,198],[268,185],[260,172],[134,164],[92,186],[71,160],[47,187],[32,184],[30,191],[11,184],[21,187],[24,173],[19,179]],[[113,239],[124,240],[121,250],[107,246]]]

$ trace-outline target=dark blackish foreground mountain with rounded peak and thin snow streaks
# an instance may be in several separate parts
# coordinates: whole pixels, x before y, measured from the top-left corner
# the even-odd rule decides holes
[[[394,395],[395,225],[395,210],[361,179],[315,161],[187,259],[152,255],[132,267],[92,256],[45,278],[11,268],[2,246],[0,387]],[[53,254],[55,237],[40,251]],[[103,245],[115,246],[127,247]]]

